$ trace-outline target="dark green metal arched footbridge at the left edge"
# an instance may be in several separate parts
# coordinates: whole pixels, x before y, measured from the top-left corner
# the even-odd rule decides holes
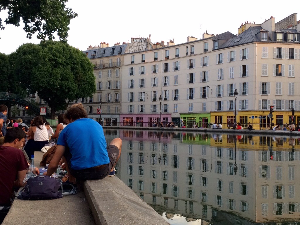
[[[43,105],[36,104],[35,102],[28,101],[24,96],[13,94],[9,92],[0,92],[0,104],[3,104],[4,102],[10,102],[12,105],[17,105],[19,107],[22,107],[26,109],[26,106],[28,107],[28,110],[35,114],[35,116],[39,116],[41,113],[41,107]],[[26,109],[27,110],[27,109]],[[51,118],[51,110],[49,112],[50,108],[47,108],[46,112],[46,118]]]

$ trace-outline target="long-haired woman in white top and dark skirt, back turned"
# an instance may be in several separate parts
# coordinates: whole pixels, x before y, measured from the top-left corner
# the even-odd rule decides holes
[[[48,131],[41,116],[35,117],[29,133],[34,139],[28,140],[24,150],[30,159],[35,151],[41,151],[46,144],[49,144]]]

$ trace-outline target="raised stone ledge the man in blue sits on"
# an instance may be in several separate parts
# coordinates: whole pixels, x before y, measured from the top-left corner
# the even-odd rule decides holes
[[[83,189],[97,225],[169,224],[116,176],[85,181]]]

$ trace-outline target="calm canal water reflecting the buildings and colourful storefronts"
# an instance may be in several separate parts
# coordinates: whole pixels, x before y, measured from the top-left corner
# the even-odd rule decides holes
[[[104,134],[123,141],[116,176],[172,225],[300,225],[300,138]]]

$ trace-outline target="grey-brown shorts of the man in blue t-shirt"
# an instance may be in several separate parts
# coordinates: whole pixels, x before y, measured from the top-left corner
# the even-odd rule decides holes
[[[70,173],[73,177],[76,178],[77,181],[85,181],[85,180],[98,180],[107,177],[110,173],[110,170],[116,163],[120,150],[115,145],[107,146],[107,153],[110,159],[108,164],[99,165],[97,167],[86,168],[82,170],[74,170],[70,167],[72,155],[70,151],[65,152],[64,156],[67,160],[68,166],[70,168]],[[67,153],[67,154],[66,154]]]

